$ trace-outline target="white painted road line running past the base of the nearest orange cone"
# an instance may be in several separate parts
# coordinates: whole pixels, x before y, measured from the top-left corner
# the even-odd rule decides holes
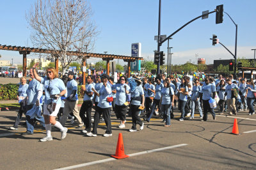
[[[186,146],[186,145],[188,145],[188,144],[177,144],[177,145],[174,145],[174,146],[167,146],[167,147],[164,147],[164,148],[158,148],[156,150],[148,150],[148,151],[141,151],[141,152],[138,152],[138,153],[132,153],[129,156],[134,157],[134,156],[137,156],[137,155],[152,153],[152,152],[155,152],[155,151],[163,151],[163,150],[169,150],[169,149],[172,149],[172,148],[179,148],[181,146]],[[109,161],[113,161],[113,160],[117,160],[117,159],[116,158],[106,158],[106,159],[96,160],[96,161],[88,162],[88,163],[84,163],[84,164],[78,164],[76,166],[61,167],[61,168],[56,169],[56,170],[75,169],[75,168],[78,168],[78,167],[92,166],[94,164],[101,164],[101,163],[109,162]]]

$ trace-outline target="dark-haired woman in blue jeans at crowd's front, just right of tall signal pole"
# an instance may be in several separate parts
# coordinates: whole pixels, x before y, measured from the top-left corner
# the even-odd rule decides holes
[[[161,89],[161,99],[160,99],[161,112],[165,120],[164,127],[170,127],[171,126],[170,112],[171,112],[173,100],[174,100],[174,97],[173,97],[174,91],[167,80],[164,80],[163,83],[164,83],[164,87]]]

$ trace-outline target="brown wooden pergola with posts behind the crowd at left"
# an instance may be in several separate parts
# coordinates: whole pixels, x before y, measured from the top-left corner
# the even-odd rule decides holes
[[[61,50],[51,50],[51,49],[38,49],[38,48],[31,48],[31,47],[16,47],[12,45],[1,45],[0,44],[0,50],[14,50],[19,51],[19,54],[23,55],[23,75],[26,76],[26,68],[27,68],[27,54],[30,54],[31,52],[35,53],[44,53],[44,54],[52,54],[52,56],[55,56],[55,68],[58,72],[58,54],[61,54]],[[86,53],[86,52],[78,52],[78,51],[67,51],[67,55],[69,56],[79,56],[83,59],[83,66],[86,66],[86,59],[88,58],[102,58],[103,61],[107,61],[106,68],[107,73],[109,75],[109,61],[113,59],[124,59],[125,62],[128,62],[127,72],[128,77],[130,77],[131,73],[131,62],[135,60],[143,60],[143,58],[134,58],[130,56],[118,56],[114,54],[97,54],[97,53]],[[83,73],[84,78],[84,84],[85,84],[85,73]]]

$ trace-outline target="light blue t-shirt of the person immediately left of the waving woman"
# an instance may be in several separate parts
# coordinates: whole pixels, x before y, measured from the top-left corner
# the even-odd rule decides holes
[[[36,81],[36,79],[32,79],[28,84],[28,105],[36,104],[38,91],[42,91],[43,93],[43,85]]]

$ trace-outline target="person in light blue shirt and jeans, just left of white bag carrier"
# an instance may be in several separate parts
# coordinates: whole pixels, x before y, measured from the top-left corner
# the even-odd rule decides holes
[[[200,119],[203,118],[203,112],[202,112],[202,108],[200,106],[200,93],[202,91],[202,87],[200,86],[200,82],[198,81],[198,79],[195,80],[195,86],[193,86],[192,89],[192,111],[191,111],[191,117],[189,119],[193,119],[194,118],[194,114],[195,114],[195,109],[196,106],[198,107],[199,113],[200,113]]]

